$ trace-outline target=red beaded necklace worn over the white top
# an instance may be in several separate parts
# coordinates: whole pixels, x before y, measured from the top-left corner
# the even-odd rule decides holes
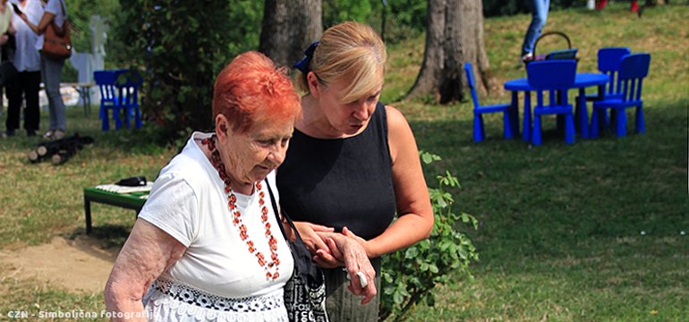
[[[280,259],[277,258],[277,240],[275,237],[273,237],[273,233],[270,231],[270,223],[268,223],[268,208],[266,207],[266,201],[263,199],[266,196],[266,193],[261,191],[262,187],[260,182],[256,182],[255,187],[256,191],[259,192],[259,207],[261,213],[260,221],[263,223],[263,226],[266,229],[266,237],[268,238],[268,246],[270,248],[270,261],[263,256],[263,253],[261,253],[259,250],[256,250],[254,243],[251,242],[249,235],[246,233],[246,226],[242,223],[242,213],[240,213],[239,208],[237,208],[235,204],[237,197],[234,196],[234,192],[232,191],[232,188],[230,188],[230,178],[225,173],[225,165],[223,165],[223,162],[220,160],[220,152],[218,152],[216,148],[216,135],[213,134],[210,136],[210,138],[201,140],[201,143],[207,146],[211,151],[210,162],[213,164],[213,166],[215,166],[217,174],[220,175],[220,179],[225,182],[225,193],[227,193],[227,199],[229,199],[227,208],[230,209],[230,212],[234,217],[232,223],[235,227],[237,227],[239,237],[242,238],[242,242],[246,242],[246,246],[249,247],[249,252],[254,254],[256,258],[259,258],[259,265],[266,271],[266,279],[268,281],[271,279],[276,280],[277,277],[280,277],[280,273],[277,272],[280,266]],[[273,267],[275,267],[274,273],[270,273],[270,270]]]

